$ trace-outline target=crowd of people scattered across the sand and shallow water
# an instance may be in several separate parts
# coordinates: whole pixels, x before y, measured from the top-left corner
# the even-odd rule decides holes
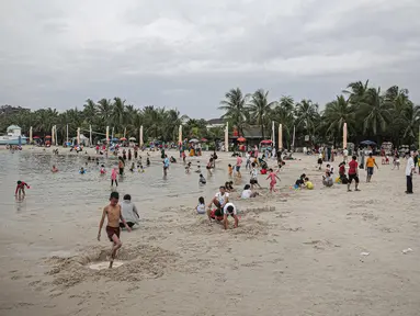
[[[100,153],[100,148],[97,148],[97,153]],[[366,183],[372,181],[372,178],[374,176],[374,169],[379,169],[374,156],[372,153],[367,155],[366,160],[362,160],[362,163],[357,161],[357,156],[353,155],[348,161],[348,150],[344,149],[342,151],[342,161],[338,165],[338,177],[334,179],[334,168],[332,166],[333,161],[338,159],[338,157],[333,158],[334,153],[332,153],[332,156],[326,156],[326,151],[320,151],[318,159],[317,159],[317,166],[314,169],[317,171],[322,170],[323,163],[326,163],[325,168],[325,174],[321,176],[322,180],[322,187],[325,188],[331,188],[334,185],[334,183],[338,184],[347,184],[348,192],[351,192],[351,185],[354,181],[354,189],[355,191],[360,191],[360,169],[366,170]],[[214,196],[212,196],[208,201],[208,203],[205,203],[204,196],[198,198],[198,203],[195,207],[195,212],[198,215],[206,215],[208,217],[208,223],[212,224],[213,222],[220,223],[225,229],[228,229],[229,227],[229,217],[234,218],[234,228],[237,228],[239,226],[239,211],[237,205],[234,203],[232,200],[235,200],[230,195],[232,192],[236,192],[236,189],[234,188],[235,183],[242,183],[243,177],[247,177],[247,173],[249,174],[249,183],[246,183],[243,187],[243,190],[241,190],[240,194],[238,195],[241,200],[247,199],[256,199],[258,196],[264,196],[264,189],[261,187],[259,182],[259,176],[263,176],[266,181],[269,181],[269,188],[268,188],[268,194],[274,194],[277,192],[276,184],[277,181],[281,181],[280,172],[284,169],[285,157],[292,158],[292,155],[285,155],[281,150],[275,156],[268,156],[266,153],[260,153],[259,155],[258,150],[252,150],[249,153],[246,153],[245,157],[241,155],[235,155],[235,163],[227,163],[227,178],[228,181],[226,181],[223,185],[219,187],[218,191],[215,193]],[[117,163],[114,165],[111,168],[110,177],[111,177],[111,188],[113,189],[113,192],[110,195],[110,204],[103,208],[100,227],[99,227],[99,234],[98,239],[101,237],[101,230],[104,225],[104,221],[107,219],[107,224],[105,227],[106,235],[112,241],[112,250],[111,250],[111,259],[110,259],[110,268],[113,266],[113,261],[116,256],[116,251],[122,247],[122,242],[120,239],[121,229],[125,228],[127,232],[130,232],[130,229],[139,224],[139,213],[136,207],[136,205],[132,202],[132,196],[129,194],[125,194],[124,199],[121,203],[120,202],[120,193],[114,191],[115,188],[118,187],[118,179],[121,177],[124,177],[125,174],[125,168],[126,163],[130,163],[129,171],[130,172],[145,172],[145,167],[143,165],[143,157],[139,155],[138,149],[132,149],[129,148],[126,150],[125,148],[114,148],[114,154],[117,157]],[[105,155],[107,157],[107,155]],[[329,157],[329,158],[328,158]],[[420,174],[420,159],[419,154],[417,151],[412,151],[411,154],[406,155],[408,157],[407,159],[407,167],[406,167],[406,178],[407,178],[407,194],[412,194],[412,176],[416,173],[416,167],[419,168],[419,174]],[[162,173],[163,177],[168,177],[169,168],[171,163],[177,163],[177,159],[173,156],[168,157],[168,155],[164,153],[164,149],[161,149],[161,162],[162,162]],[[272,163],[270,161],[270,158],[276,158],[276,163]],[[191,169],[193,168],[192,161],[186,160],[186,155],[184,150],[180,150],[180,159],[182,159],[182,162],[185,168],[185,173],[190,173]],[[216,168],[216,160],[218,159],[218,156],[216,151],[214,151],[208,162],[206,163],[206,170],[207,170],[207,177],[212,177],[214,173],[214,170]],[[395,151],[394,154],[394,160],[393,160],[393,167],[391,169],[399,169],[400,157],[398,151]],[[90,157],[88,156],[86,166],[81,167],[79,170],[80,174],[86,174],[89,168],[90,163],[95,163],[99,170],[99,174],[104,177],[107,174],[107,170],[105,168],[104,163],[100,162],[100,159],[98,157]],[[242,170],[242,165],[245,163],[245,171]],[[146,154],[146,167],[150,167],[150,155],[149,153]],[[269,165],[273,165],[270,167]],[[382,165],[389,165],[388,157],[383,157]],[[226,166],[226,165],[225,165]],[[53,173],[58,172],[58,168],[56,165],[53,165],[50,171]],[[197,160],[196,163],[196,173],[198,173],[198,183],[200,185],[205,185],[207,183],[206,178],[204,177],[200,160]],[[317,177],[317,176],[315,176]],[[234,180],[234,181],[232,181]],[[247,181],[248,182],[248,181]],[[25,195],[25,189],[30,189],[31,187],[22,181],[19,180],[15,188],[15,195],[16,196],[24,196]],[[295,181],[295,183],[290,187],[293,190],[314,190],[315,184],[309,179],[309,177],[306,173],[302,173],[298,179]]]

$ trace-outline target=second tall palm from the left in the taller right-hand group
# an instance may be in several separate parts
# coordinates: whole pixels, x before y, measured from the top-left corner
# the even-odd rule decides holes
[[[257,124],[261,126],[262,138],[264,138],[264,128],[269,123],[269,115],[275,104],[275,101],[269,102],[269,91],[264,91],[263,89],[257,90],[248,103],[250,115],[256,117]]]

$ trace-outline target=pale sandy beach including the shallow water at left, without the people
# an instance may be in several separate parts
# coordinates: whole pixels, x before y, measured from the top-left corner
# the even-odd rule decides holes
[[[194,206],[228,180],[230,154],[218,154],[214,176],[200,187],[197,174],[185,174],[180,163],[163,181],[155,153],[145,176],[129,176],[118,188],[133,195],[140,225],[122,233],[120,267],[98,270],[91,266],[110,252],[105,235],[99,242],[97,234],[111,191],[107,178],[77,174],[86,160],[79,155],[0,153],[0,315],[420,313],[420,177],[413,177],[415,194],[406,195],[406,161],[391,170],[377,158],[372,182],[365,183],[363,170],[362,191],[347,192],[340,184],[322,188],[317,158],[296,154],[281,171],[280,192],[270,194],[259,176],[264,196],[252,200],[239,199],[249,182],[242,167],[239,192],[231,194],[239,228],[230,222],[224,230]],[[175,150],[169,155],[178,158]],[[203,167],[208,156],[200,158]],[[336,170],[339,161],[332,162]],[[54,178],[47,169],[53,162],[68,170]],[[303,172],[315,190],[291,189]],[[13,196],[19,179],[34,187],[23,202]]]

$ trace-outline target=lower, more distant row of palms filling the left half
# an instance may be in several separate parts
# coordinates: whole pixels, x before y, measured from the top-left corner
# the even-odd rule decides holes
[[[102,99],[98,102],[88,99],[82,109],[69,109],[58,112],[56,109],[39,109],[31,111],[29,109],[13,108],[3,105],[0,108],[0,131],[5,131],[9,125],[19,125],[22,133],[29,135],[30,127],[33,135],[44,137],[50,135],[52,128],[56,125],[57,138],[59,143],[66,140],[67,126],[69,137],[75,137],[77,128],[88,136],[89,128],[92,126],[94,139],[105,138],[106,126],[110,126],[110,136],[114,129],[115,137],[135,137],[139,140],[139,129],[143,126],[144,139],[178,142],[179,126],[183,125],[183,137],[186,138],[223,138],[223,128],[207,129],[205,120],[190,119],[182,115],[177,109],[156,108],[152,105],[136,109],[121,98],[113,100]]]

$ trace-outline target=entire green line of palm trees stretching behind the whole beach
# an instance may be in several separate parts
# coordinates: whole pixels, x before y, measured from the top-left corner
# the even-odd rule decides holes
[[[218,109],[224,112],[222,117],[229,122],[229,127],[237,128],[243,136],[247,136],[247,127],[257,125],[261,135],[270,138],[271,122],[274,121],[276,126],[282,124],[283,144],[287,147],[294,128],[298,145],[307,144],[305,136],[308,135],[310,144],[340,146],[344,122],[348,124],[348,139],[355,144],[371,139],[377,144],[412,145],[419,136],[420,110],[410,100],[408,90],[393,86],[382,91],[371,87],[368,80],[350,83],[334,100],[325,104],[322,111],[311,100],[295,102],[292,97],[270,100],[269,91],[263,89],[243,93],[239,88],[226,92]],[[126,137],[138,139],[143,125],[145,140],[177,142],[181,124],[184,137],[224,140],[224,128],[208,129],[206,120],[190,119],[177,109],[152,105],[138,109],[121,98],[98,102],[88,99],[82,109],[60,113],[50,108],[31,111],[3,105],[0,108],[0,131],[12,124],[21,126],[26,135],[32,126],[34,135],[38,136],[49,135],[56,125],[59,142],[65,140],[67,125],[70,137],[76,136],[78,127],[89,131],[92,126],[93,131],[105,134],[106,126],[110,126],[110,133],[114,128],[116,137],[122,137],[126,131]]]

